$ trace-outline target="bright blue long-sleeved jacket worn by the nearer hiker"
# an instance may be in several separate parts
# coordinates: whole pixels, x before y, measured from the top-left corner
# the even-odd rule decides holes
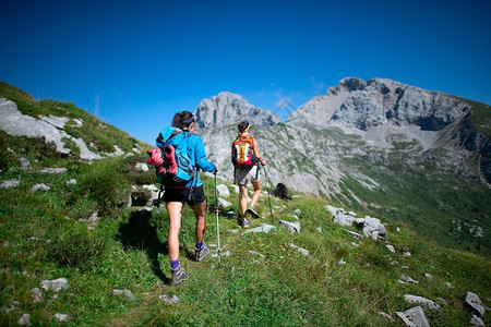
[[[204,148],[203,140],[194,133],[185,132],[188,134],[188,154],[189,158],[191,160],[191,165],[203,170],[206,172],[215,172],[216,167],[215,164],[208,161],[206,159],[206,152]],[[196,177],[189,181],[187,184],[179,185],[179,186],[167,186],[168,189],[176,189],[176,187],[197,187],[202,186],[203,181],[200,178],[200,173],[197,171]]]

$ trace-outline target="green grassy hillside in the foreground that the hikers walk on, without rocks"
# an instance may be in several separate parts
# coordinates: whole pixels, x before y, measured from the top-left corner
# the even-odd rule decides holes
[[[94,126],[98,122],[94,121]],[[94,137],[113,133],[117,136],[108,142],[130,152],[130,144],[122,140],[128,136],[118,136],[116,130],[107,133],[107,129],[100,132],[94,128]],[[0,140],[0,183],[21,180],[17,187],[0,190],[0,307],[20,302],[12,312],[0,311],[0,325],[15,325],[23,313],[31,314],[34,325],[55,324],[52,316],[63,313],[71,317],[69,325],[89,326],[398,326],[398,320],[385,322],[378,312],[391,314],[411,307],[402,298],[409,293],[448,302],[442,312],[428,312],[431,325],[463,326],[471,317],[463,306],[467,291],[491,305],[488,258],[440,247],[404,223],[392,222],[387,225],[388,242],[396,254],[371,240],[359,241],[361,246],[354,247],[344,228],[332,222],[324,208],[328,203],[306,195],[288,203],[272,198],[274,219],[266,214],[265,220],[254,220],[252,226],[291,221],[295,209],[301,209],[300,234],[280,227],[268,234],[242,234],[242,230],[233,234],[229,230],[237,228],[236,221],[221,216],[223,253],[230,251],[231,255],[224,256],[221,267],[217,267],[216,258],[207,257],[203,263],[187,259],[182,249],[181,261],[190,280],[170,287],[166,283],[170,270],[165,210],[156,214],[125,207],[130,185],[154,181],[152,172],[134,170],[146,155],[88,165],[74,157],[59,157],[40,140],[4,133]],[[19,170],[21,157],[31,161],[32,170]],[[68,171],[59,175],[38,172],[46,167],[67,167]],[[68,185],[71,179],[77,183]],[[36,183],[51,189],[31,193]],[[205,178],[205,192],[209,203],[215,203],[214,180]],[[231,192],[228,201],[236,199]],[[265,195],[259,209],[268,213]],[[97,225],[80,220],[96,210]],[[183,215],[187,249],[192,251],[192,214],[185,208]],[[207,243],[216,243],[213,210],[207,223]],[[396,227],[400,227],[399,232]],[[310,255],[303,256],[290,243],[309,250]],[[410,257],[403,256],[406,251]],[[338,264],[342,258],[346,264]],[[427,280],[423,272],[431,274],[433,280]],[[400,284],[403,274],[419,283]],[[69,280],[70,289],[60,291],[57,300],[52,291],[44,291],[41,302],[32,300],[29,290],[40,288],[41,280],[61,277]],[[129,289],[136,299],[111,295],[113,289]],[[163,294],[178,295],[180,303],[166,304],[158,299]],[[484,323],[491,323],[489,314]]]

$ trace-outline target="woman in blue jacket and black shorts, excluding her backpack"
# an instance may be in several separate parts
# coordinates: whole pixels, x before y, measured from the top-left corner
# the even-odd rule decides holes
[[[218,165],[206,159],[203,141],[199,135],[193,133],[195,121],[191,112],[182,111],[176,113],[172,119],[172,126],[189,133],[189,136],[187,137],[188,150],[191,164],[194,167],[207,172],[218,171]],[[204,244],[206,197],[203,191],[203,182],[201,181],[199,173],[196,174],[196,178],[185,184],[165,186],[164,201],[169,216],[167,246],[169,250],[172,284],[181,283],[188,279],[188,272],[181,268],[179,263],[179,230],[181,227],[181,211],[184,202],[188,203],[196,217],[195,261],[200,262],[209,253],[209,249]]]

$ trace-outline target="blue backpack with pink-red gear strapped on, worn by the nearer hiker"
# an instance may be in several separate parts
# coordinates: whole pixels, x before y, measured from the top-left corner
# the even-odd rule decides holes
[[[155,167],[161,185],[182,185],[195,178],[188,137],[191,132],[177,128],[164,128],[156,140],[157,146],[148,150],[148,164]]]

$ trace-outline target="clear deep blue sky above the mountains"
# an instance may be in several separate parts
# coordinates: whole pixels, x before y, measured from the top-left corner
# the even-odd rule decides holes
[[[276,111],[346,76],[491,105],[491,1],[2,3],[0,80],[153,144],[221,90]],[[285,110],[278,114],[285,114]]]

